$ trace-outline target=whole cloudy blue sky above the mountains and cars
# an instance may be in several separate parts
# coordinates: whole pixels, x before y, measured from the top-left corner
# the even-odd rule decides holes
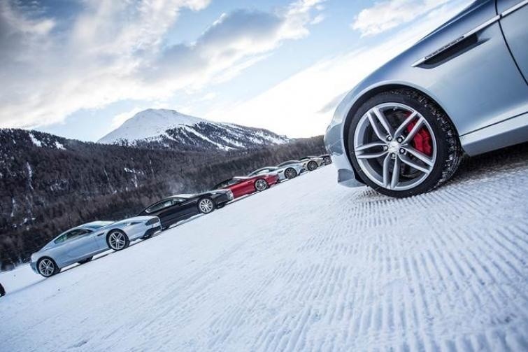
[[[0,0],[0,128],[97,141],[146,108],[290,137],[470,0]]]

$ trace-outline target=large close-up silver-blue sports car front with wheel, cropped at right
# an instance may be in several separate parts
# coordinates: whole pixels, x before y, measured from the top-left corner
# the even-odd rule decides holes
[[[324,136],[339,183],[392,197],[527,140],[528,0],[474,1],[359,83]]]

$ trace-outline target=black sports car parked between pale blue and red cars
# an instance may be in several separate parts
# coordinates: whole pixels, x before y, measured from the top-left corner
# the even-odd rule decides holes
[[[165,230],[178,221],[199,213],[208,214],[233,200],[230,190],[215,190],[197,195],[174,195],[148,206],[139,216],[157,216]]]

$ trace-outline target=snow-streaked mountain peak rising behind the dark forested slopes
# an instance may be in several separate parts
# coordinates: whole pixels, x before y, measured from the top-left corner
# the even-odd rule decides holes
[[[173,110],[148,109],[134,115],[99,143],[178,150],[236,150],[287,141],[287,137],[266,129],[211,122]]]

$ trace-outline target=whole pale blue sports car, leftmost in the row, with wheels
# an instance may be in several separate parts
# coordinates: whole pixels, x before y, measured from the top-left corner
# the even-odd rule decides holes
[[[148,239],[160,229],[161,223],[155,216],[136,216],[117,222],[94,221],[59,234],[31,255],[30,266],[37,274],[50,277],[68,265],[90,262],[94,255],[108,249],[121,251],[131,241]]]

